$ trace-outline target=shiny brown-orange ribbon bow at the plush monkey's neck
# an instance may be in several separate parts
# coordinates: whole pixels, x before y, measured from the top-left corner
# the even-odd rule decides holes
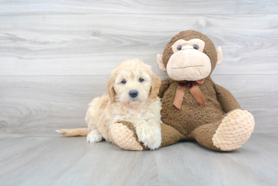
[[[178,81],[178,86],[176,89],[176,96],[175,96],[175,100],[173,103],[174,106],[176,106],[176,108],[178,108],[179,110],[181,109],[184,94],[186,93],[186,89],[189,86],[189,91],[191,92],[192,96],[199,103],[201,108],[203,108],[206,98],[205,98],[203,92],[200,90],[198,84],[203,84],[204,81],[205,81],[205,78],[200,79],[198,81]]]

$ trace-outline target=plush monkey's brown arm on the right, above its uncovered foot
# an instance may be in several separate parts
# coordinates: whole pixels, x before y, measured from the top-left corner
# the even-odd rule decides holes
[[[219,86],[218,84],[214,84],[214,89],[216,91],[217,100],[221,104],[225,113],[241,108],[240,104],[229,90]]]

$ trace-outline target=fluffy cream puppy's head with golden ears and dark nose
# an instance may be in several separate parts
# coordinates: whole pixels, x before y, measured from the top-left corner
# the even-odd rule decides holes
[[[116,100],[137,106],[148,98],[156,99],[160,84],[160,79],[151,71],[151,66],[136,59],[126,60],[112,71],[107,89],[111,104]]]

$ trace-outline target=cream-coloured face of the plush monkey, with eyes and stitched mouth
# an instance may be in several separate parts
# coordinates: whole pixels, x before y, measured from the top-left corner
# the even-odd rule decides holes
[[[206,78],[211,72],[211,62],[203,53],[204,48],[205,42],[198,38],[189,41],[177,40],[172,45],[174,54],[166,66],[170,78],[176,81]]]

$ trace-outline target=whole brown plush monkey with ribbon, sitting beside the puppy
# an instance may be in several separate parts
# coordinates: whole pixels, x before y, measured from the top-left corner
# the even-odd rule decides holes
[[[248,140],[255,125],[252,114],[241,109],[234,96],[210,77],[221,61],[221,48],[215,50],[210,38],[193,30],[172,37],[163,56],[157,55],[160,69],[170,77],[162,80],[158,94],[162,99],[161,147],[196,140],[215,151],[232,151]],[[136,138],[132,124],[121,123]],[[125,139],[117,145],[132,150],[132,143],[139,142]]]

